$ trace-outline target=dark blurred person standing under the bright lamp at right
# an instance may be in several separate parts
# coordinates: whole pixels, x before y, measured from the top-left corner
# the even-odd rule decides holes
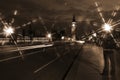
[[[110,34],[107,34],[106,38],[103,39],[104,49],[104,61],[105,67],[103,70],[103,76],[105,80],[116,80],[115,78],[115,53],[116,43]]]

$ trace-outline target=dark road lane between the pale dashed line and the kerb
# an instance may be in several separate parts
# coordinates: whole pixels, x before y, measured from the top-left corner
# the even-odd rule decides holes
[[[64,77],[69,71],[71,63],[74,61],[77,53],[80,53],[80,46],[72,47],[71,50],[62,58],[51,63],[47,67],[35,72],[35,80],[64,80]],[[35,70],[36,71],[36,70]]]

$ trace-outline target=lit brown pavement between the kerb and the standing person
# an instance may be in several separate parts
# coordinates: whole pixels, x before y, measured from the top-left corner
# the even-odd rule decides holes
[[[102,80],[103,61],[101,47],[85,44],[65,80]]]

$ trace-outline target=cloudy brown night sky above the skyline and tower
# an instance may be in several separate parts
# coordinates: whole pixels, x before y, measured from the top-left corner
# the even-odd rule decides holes
[[[64,26],[64,23],[71,24],[73,14],[77,21],[89,19],[91,12],[96,11],[95,1],[104,11],[114,10],[116,5],[120,5],[119,0],[0,0],[0,16],[11,18],[17,10],[17,26],[38,17],[47,27],[53,23],[63,23]]]

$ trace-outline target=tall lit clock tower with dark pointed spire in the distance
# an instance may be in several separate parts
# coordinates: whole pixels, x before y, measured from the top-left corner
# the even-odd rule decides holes
[[[75,15],[73,15],[72,19],[72,27],[71,27],[72,41],[76,40],[76,19]]]

